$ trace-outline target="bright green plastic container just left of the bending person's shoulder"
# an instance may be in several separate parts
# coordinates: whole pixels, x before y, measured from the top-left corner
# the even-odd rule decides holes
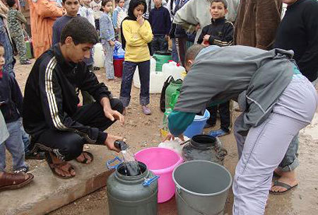
[[[171,81],[169,86],[165,89],[165,110],[175,108],[175,103],[180,94],[180,88],[182,87],[182,80],[177,79],[176,81]]]

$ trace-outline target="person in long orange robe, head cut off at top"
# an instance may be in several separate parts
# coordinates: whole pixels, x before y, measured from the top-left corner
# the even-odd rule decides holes
[[[28,0],[30,5],[31,34],[35,58],[52,45],[52,27],[54,21],[63,15],[63,9],[57,1]]]

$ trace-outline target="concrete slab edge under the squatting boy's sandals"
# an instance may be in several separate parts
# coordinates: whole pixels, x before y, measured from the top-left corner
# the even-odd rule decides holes
[[[76,177],[65,180],[57,178],[48,165],[37,168],[33,182],[20,190],[8,190],[0,194],[1,215],[40,215],[47,214],[74,200],[104,187],[112,173],[105,167],[105,162],[114,158],[114,153],[106,146],[89,146],[94,155],[89,165],[71,161],[76,169]]]

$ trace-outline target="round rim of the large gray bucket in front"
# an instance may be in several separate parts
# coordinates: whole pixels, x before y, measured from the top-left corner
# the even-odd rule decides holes
[[[177,170],[177,168],[179,168],[179,166],[181,166],[181,165],[185,165],[187,163],[199,163],[199,162],[201,162],[201,163],[213,163],[215,165],[220,166],[220,168],[223,168],[225,170],[225,172],[228,173],[228,175],[230,175],[230,183],[229,183],[229,185],[227,187],[225,187],[223,190],[221,190],[219,192],[213,192],[211,194],[193,192],[193,191],[187,190],[184,187],[182,187],[181,185],[179,185],[179,183],[175,180],[175,170]],[[211,162],[211,161],[187,161],[187,162],[184,162],[184,163],[180,163],[179,165],[177,165],[177,167],[172,172],[172,180],[173,180],[173,182],[175,182],[175,188],[176,189],[180,189],[180,190],[183,190],[184,192],[187,192],[189,194],[194,194],[196,196],[201,196],[201,197],[202,196],[203,197],[212,197],[212,196],[216,196],[218,194],[221,194],[221,193],[225,192],[226,190],[229,190],[230,187],[232,186],[232,182],[233,182],[232,175],[231,175],[230,171],[227,168],[225,168],[223,165],[220,165],[218,163],[214,163],[214,162]]]

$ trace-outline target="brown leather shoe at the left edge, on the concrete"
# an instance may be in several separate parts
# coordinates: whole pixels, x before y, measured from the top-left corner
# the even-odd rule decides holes
[[[0,190],[13,190],[28,185],[34,176],[31,173],[26,175],[29,175],[29,178],[25,179],[25,174],[23,173],[12,174],[4,172],[0,178]]]

